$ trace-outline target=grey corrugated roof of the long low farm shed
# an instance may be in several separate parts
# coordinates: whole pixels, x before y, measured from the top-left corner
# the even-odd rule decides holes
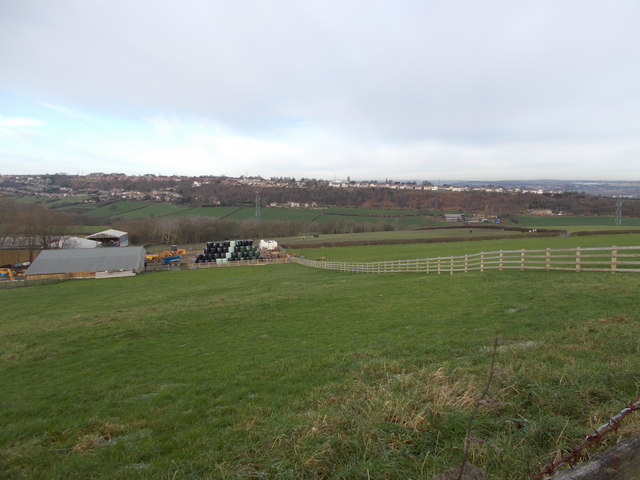
[[[144,247],[43,250],[25,275],[139,270],[145,253]]]

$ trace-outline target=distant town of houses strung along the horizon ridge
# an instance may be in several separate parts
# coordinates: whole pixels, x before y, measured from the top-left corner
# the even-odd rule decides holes
[[[83,201],[154,200],[179,202],[189,191],[190,195],[211,185],[269,188],[336,188],[336,189],[390,189],[433,192],[488,192],[561,194],[579,192],[593,196],[640,198],[638,181],[566,181],[566,180],[511,180],[501,182],[481,181],[395,181],[395,180],[318,180],[308,178],[260,176],[165,176],[125,175],[124,173],[91,173],[89,175],[42,174],[0,175],[0,194],[8,196],[33,196],[43,198],[86,197]],[[296,205],[297,206],[297,205]]]

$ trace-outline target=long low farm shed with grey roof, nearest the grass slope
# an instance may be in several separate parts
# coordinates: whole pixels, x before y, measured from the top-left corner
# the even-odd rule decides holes
[[[42,278],[109,278],[144,271],[143,247],[43,250],[25,272],[27,280]]]

